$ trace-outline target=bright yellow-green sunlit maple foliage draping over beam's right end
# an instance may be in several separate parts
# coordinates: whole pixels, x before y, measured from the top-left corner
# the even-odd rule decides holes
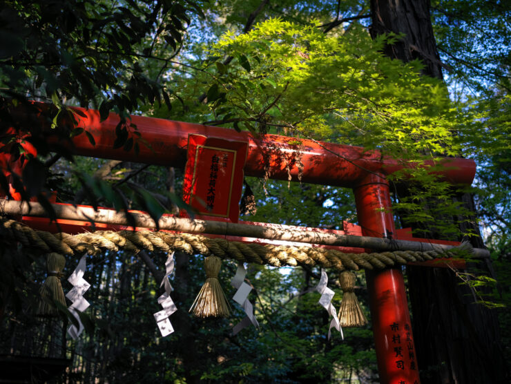
[[[414,180],[417,193],[450,207],[452,189],[432,179],[427,167],[461,153],[455,136],[472,120],[441,81],[421,75],[420,61],[403,64],[381,53],[398,38],[373,40],[357,25],[344,35],[325,35],[317,22],[268,19],[244,34],[225,32],[182,90],[196,94],[198,88],[207,96],[207,104],[193,110],[202,122],[364,146],[399,159],[407,166],[401,180]],[[434,217],[424,211],[425,202],[398,206],[405,212],[414,204],[410,214]],[[445,218],[461,217],[456,209],[447,209]],[[453,236],[450,226],[434,227]]]

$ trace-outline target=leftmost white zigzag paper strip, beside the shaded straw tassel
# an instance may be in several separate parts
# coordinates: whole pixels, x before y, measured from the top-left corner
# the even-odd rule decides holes
[[[84,273],[87,267],[86,256],[86,254],[81,256],[75,271],[68,278],[68,282],[73,285],[73,289],[66,294],[66,298],[73,303],[68,309],[78,321],[78,327],[70,325],[68,328],[68,334],[73,340],[76,340],[81,332],[84,331],[84,325],[81,323],[79,312],[85,311],[90,306],[90,303],[84,298],[85,292],[90,288],[90,284],[84,280]]]

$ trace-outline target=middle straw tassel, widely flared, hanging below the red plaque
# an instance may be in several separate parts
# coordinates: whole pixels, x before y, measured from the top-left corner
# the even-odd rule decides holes
[[[222,260],[217,256],[204,259],[206,282],[190,308],[190,312],[197,317],[227,317],[231,314],[231,307],[218,281],[221,266]]]

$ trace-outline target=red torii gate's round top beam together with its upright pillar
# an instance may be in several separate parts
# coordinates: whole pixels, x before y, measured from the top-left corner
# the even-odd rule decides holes
[[[97,111],[75,109],[84,115],[75,116],[78,126],[85,128],[95,140],[93,146],[86,135],[74,137],[74,146],[70,149],[76,155],[184,166],[189,134],[248,142],[245,175],[268,175],[277,180],[288,180],[291,175],[293,181],[349,187],[354,190],[362,235],[411,240],[410,236],[403,231],[396,231],[394,227],[389,184],[385,178],[385,175],[403,169],[403,165],[390,157],[382,157],[377,151],[314,140],[300,140],[298,146],[294,137],[264,135],[256,138],[250,133],[238,133],[227,128],[131,116],[131,122],[151,146],[140,146],[138,155],[135,155],[133,151],[113,148],[118,115],[110,113],[106,120],[100,122]],[[55,137],[48,137],[48,142],[68,146],[68,143],[58,142]],[[300,154],[301,170],[297,164],[297,153]],[[446,158],[443,166],[443,171],[439,173],[445,180],[453,184],[472,183],[476,171],[473,160]],[[441,240],[414,240],[459,244]],[[438,264],[430,265],[438,267]],[[414,366],[415,346],[401,268],[366,271],[366,276],[380,381],[419,383],[418,367]],[[401,342],[400,349],[395,347],[396,340]],[[396,363],[396,358],[400,358],[401,363]]]

